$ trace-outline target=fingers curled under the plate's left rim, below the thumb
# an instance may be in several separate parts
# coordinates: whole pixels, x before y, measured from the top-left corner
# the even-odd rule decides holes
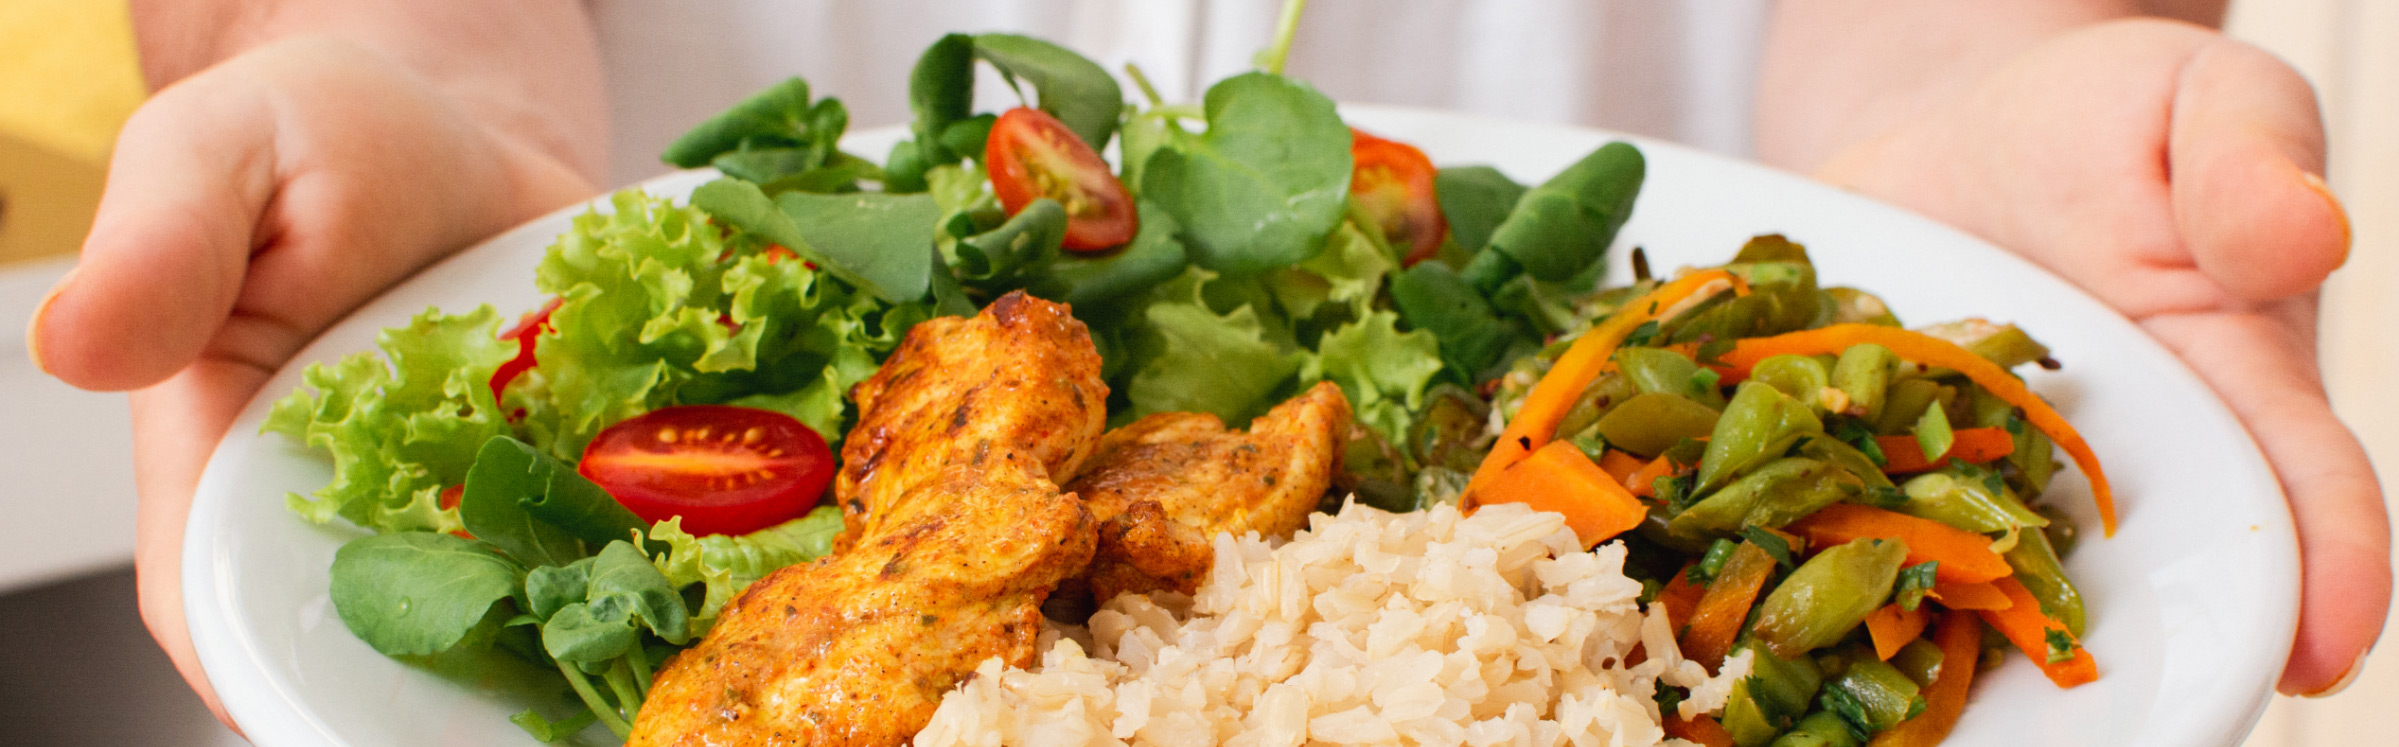
[[[134,485],[142,492],[134,514],[134,584],[142,596],[142,625],[158,639],[168,661],[175,663],[175,673],[192,685],[216,721],[235,733],[240,725],[209,687],[209,675],[192,646],[192,632],[185,627],[182,531],[192,514],[190,497],[199,488],[199,473],[247,401],[247,396],[223,394],[257,392],[269,375],[271,370],[247,363],[202,360],[132,394]]]

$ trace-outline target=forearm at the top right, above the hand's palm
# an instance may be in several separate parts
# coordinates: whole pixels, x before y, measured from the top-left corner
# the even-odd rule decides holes
[[[1758,72],[1756,154],[1814,171],[1958,96],[2044,38],[2152,14],[2214,26],[2226,0],[1782,0]]]

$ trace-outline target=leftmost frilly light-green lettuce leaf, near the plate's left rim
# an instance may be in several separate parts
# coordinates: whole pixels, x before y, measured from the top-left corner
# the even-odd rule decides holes
[[[309,365],[261,428],[333,459],[333,480],[309,497],[290,495],[293,512],[374,531],[458,528],[458,512],[439,507],[441,490],[465,483],[482,442],[509,430],[492,372],[516,343],[497,331],[489,305],[427,310],[379,334],[381,355]]]

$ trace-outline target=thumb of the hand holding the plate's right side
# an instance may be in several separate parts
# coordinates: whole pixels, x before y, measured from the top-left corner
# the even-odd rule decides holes
[[[2315,89],[2274,55],[2217,38],[2183,65],[2169,168],[2193,259],[2236,298],[2308,293],[2349,259]]]

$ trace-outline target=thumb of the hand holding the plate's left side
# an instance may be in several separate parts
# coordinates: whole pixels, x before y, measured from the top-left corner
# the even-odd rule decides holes
[[[82,262],[29,322],[34,360],[84,389],[180,370],[233,307],[271,195],[271,110],[249,79],[161,91],[125,122]]]

